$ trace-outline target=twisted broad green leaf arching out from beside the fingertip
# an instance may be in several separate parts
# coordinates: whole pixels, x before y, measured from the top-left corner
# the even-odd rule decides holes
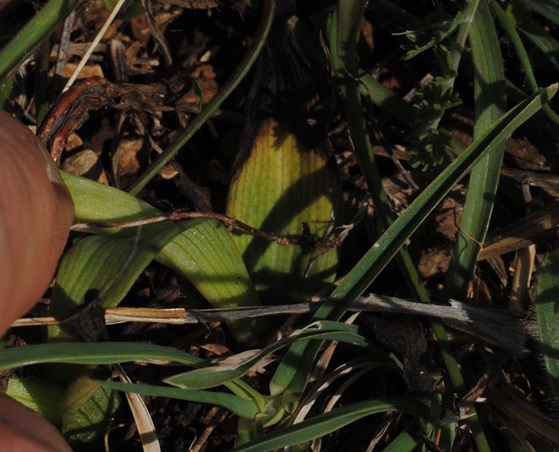
[[[63,178],[76,206],[76,221],[130,221],[161,214],[159,210],[146,202],[116,188],[107,187],[67,173],[63,173]],[[95,287],[90,288],[103,290],[106,287],[103,284],[116,284],[111,282],[110,277],[103,276],[103,273],[106,272],[105,266],[111,265],[111,259],[116,260],[117,251],[119,252],[121,263],[123,260],[128,259],[125,256],[130,256],[140,249],[144,255],[141,259],[145,261],[148,254],[153,254],[155,248],[160,248],[160,245],[166,241],[164,247],[155,253],[157,254],[156,260],[189,279],[212,306],[216,308],[231,308],[257,306],[260,304],[239,251],[231,235],[220,223],[214,220],[191,220],[176,226],[159,225],[155,230],[151,230],[148,227],[145,228],[148,231],[155,232],[151,237],[145,237],[140,229],[137,233],[141,239],[140,242],[138,242],[138,238],[133,231],[127,233],[118,232],[118,230],[99,229],[94,231],[101,235],[99,238],[89,239],[91,240],[91,245],[88,245],[88,247],[92,249],[94,246],[98,246],[100,249],[105,249],[104,259],[109,261],[98,260],[97,272],[99,273],[99,281],[91,281],[90,286],[94,285]],[[169,241],[173,236],[173,230],[176,230],[176,228],[182,228],[182,232]],[[109,240],[104,242],[104,239],[110,239],[111,235],[114,234],[124,234],[123,236],[118,235],[118,240],[123,241],[111,242]],[[112,243],[112,245],[109,243]],[[141,247],[139,246],[140,244]],[[83,246],[85,247],[85,245]],[[109,252],[111,246],[115,247],[113,257],[109,256],[111,254]],[[89,253],[91,253],[91,249],[89,249]],[[137,269],[144,265],[144,263],[127,262],[126,265],[131,265],[137,272]],[[82,263],[81,267],[85,269],[85,263]],[[87,268],[87,271],[93,271],[91,268]],[[75,273],[75,270],[71,268],[68,271]],[[120,268],[118,271],[123,273],[121,278],[122,288],[117,290],[118,287],[115,286],[114,289],[111,289],[115,294],[118,292],[118,296],[114,298],[115,300],[124,295],[124,286],[126,284],[133,283],[131,281],[132,268],[130,270]],[[127,274],[130,276],[127,276]],[[60,278],[60,275],[58,277]],[[75,284],[80,283],[76,282]],[[84,293],[84,290],[81,289],[79,293],[71,296],[73,299],[79,300],[80,297],[83,297]],[[243,319],[229,322],[228,326],[239,342],[248,345],[267,332],[267,322],[265,319],[258,319],[258,321],[256,319]]]

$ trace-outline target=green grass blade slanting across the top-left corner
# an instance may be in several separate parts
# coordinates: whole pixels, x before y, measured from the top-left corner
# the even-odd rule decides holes
[[[50,0],[0,53],[0,86],[47,39],[80,0]]]

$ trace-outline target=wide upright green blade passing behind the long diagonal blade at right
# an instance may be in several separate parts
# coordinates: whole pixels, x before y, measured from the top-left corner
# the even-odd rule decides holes
[[[503,58],[486,2],[480,2],[469,39],[475,71],[475,139],[506,111]],[[445,298],[466,299],[480,243],[485,240],[493,212],[504,152],[504,140],[494,143],[472,169],[460,231],[446,274]]]

